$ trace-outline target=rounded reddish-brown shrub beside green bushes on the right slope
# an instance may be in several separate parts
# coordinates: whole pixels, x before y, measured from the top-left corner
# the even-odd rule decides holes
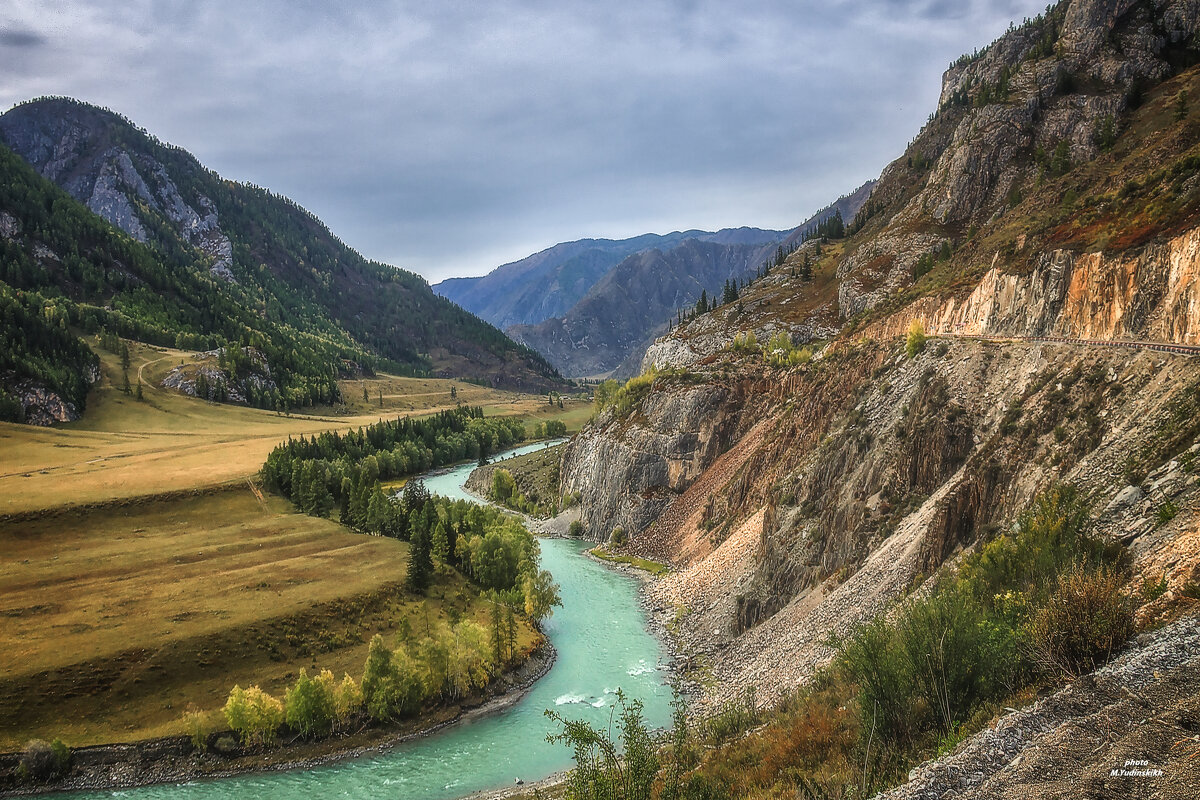
[[[1076,676],[1106,662],[1134,632],[1124,576],[1078,566],[1063,575],[1030,624],[1033,655],[1049,673]]]

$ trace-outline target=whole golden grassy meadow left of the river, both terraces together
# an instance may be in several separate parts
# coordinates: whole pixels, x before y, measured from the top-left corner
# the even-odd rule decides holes
[[[0,423],[0,751],[181,733],[190,709],[221,727],[234,684],[282,696],[300,668],[358,678],[374,633],[391,644],[487,622],[490,606],[458,573],[439,569],[418,597],[404,589],[408,543],[298,513],[253,477],[288,437],[380,417],[466,403],[577,429],[590,413],[584,401],[559,409],[546,396],[379,375],[344,381],[342,405],[276,414],[162,389],[193,353],[130,342],[122,371],[89,343],[103,374],[82,420]],[[125,374],[142,401],[122,391]],[[539,634],[518,627],[526,651]]]

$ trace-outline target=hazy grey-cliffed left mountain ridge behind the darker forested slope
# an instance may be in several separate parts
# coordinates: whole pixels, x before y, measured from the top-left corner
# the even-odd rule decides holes
[[[335,385],[332,374],[370,371],[373,365],[539,391],[560,385],[541,356],[437,296],[422,277],[365,259],[294,201],[223,179],[186,150],[160,142],[114,112],[72,98],[29,101],[0,115],[0,140],[86,212],[124,231],[134,249],[156,253],[174,276],[160,284],[161,291],[185,291],[185,284],[205,273],[208,283],[186,291],[210,295],[205,303],[222,306],[229,314],[240,314],[234,312],[239,306],[253,312],[253,319],[241,323],[242,335],[223,325],[216,312],[197,312],[182,327],[179,319],[167,325],[176,336],[200,337],[197,345],[209,348],[217,344],[212,336],[220,329],[222,341],[254,339],[259,349],[266,347],[265,339],[259,341],[265,336],[274,342],[266,349],[276,373],[299,366],[286,351],[289,337],[302,350],[323,351],[316,356],[316,350],[304,350],[301,361],[307,362],[307,380],[324,389],[281,398],[283,403],[304,404],[318,395],[329,402],[336,395],[329,389]],[[29,191],[41,191],[28,179],[20,181],[30,185]],[[13,196],[10,201],[22,200]],[[126,303],[136,315],[151,319],[145,303],[130,300],[136,287],[113,282],[103,266],[112,259],[102,253],[101,261],[84,259],[80,267],[86,267],[90,283],[62,283],[67,276],[54,269],[53,258],[38,255],[41,245],[32,236],[46,224],[55,221],[25,225],[19,241],[8,237],[24,253],[14,251],[13,258],[30,261],[14,289],[48,291],[96,307]],[[172,312],[155,319],[162,327],[163,320],[173,319]],[[162,343],[166,330],[156,337]]]

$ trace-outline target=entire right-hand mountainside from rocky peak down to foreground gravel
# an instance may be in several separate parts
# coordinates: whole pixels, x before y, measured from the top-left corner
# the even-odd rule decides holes
[[[697,784],[732,795],[748,776],[766,781],[754,784],[763,795],[800,784],[872,796],[908,776],[882,796],[1040,798],[1100,783],[1123,796],[1129,784],[1108,781],[1128,752],[1184,769],[1182,709],[1200,691],[1198,65],[1190,2],[1072,0],[1014,25],[950,66],[929,122],[844,231],[809,239],[738,302],[660,337],[646,374],[598,391],[559,487],[580,498],[586,534],[619,529],[628,555],[673,565],[648,604],[682,660],[706,664],[708,709],[744,697],[794,709],[712,753],[722,770],[752,766]],[[1066,497],[1079,501],[1060,527]],[[1040,525],[1037,547],[1076,530],[1123,554],[1091,596],[1128,603],[1130,627],[1162,638],[1148,650],[1110,642],[1092,663],[1120,661],[1096,673],[1025,661],[1015,686],[984,699],[964,687],[997,657],[978,646],[947,657],[941,643],[965,631],[952,616],[996,602],[1019,632],[1037,631],[1007,663],[1068,634],[1014,578],[1034,558],[1013,555],[1014,537]],[[949,594],[960,565],[996,577],[983,601]],[[1097,622],[1070,579],[1045,591],[1079,612],[1070,625]],[[930,615],[918,621],[913,607]],[[1165,627],[1181,618],[1190,633]],[[930,638],[917,645],[898,619]],[[1000,630],[971,625],[967,636]],[[862,646],[826,670],[848,642]],[[925,656],[888,657],[910,645]],[[908,740],[881,741],[863,666],[890,681],[889,664],[920,672],[931,657],[931,674],[977,667],[955,673],[958,688],[937,678],[911,693],[894,717]],[[1048,697],[1082,673],[1079,691]],[[919,684],[913,674],[895,680]],[[1160,735],[1144,706],[1115,702],[1127,685],[1172,709]],[[1006,712],[1014,691],[1045,699]],[[1111,720],[1127,733],[1078,741]],[[824,732],[839,726],[847,746],[827,756]],[[940,757],[949,732],[961,744]],[[788,751],[805,736],[820,746]],[[779,759],[774,775],[761,774],[762,753]],[[1189,796],[1194,774],[1170,775],[1154,790]]]

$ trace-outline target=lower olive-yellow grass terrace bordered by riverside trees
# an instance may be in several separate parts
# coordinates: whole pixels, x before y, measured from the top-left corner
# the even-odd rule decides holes
[[[186,708],[218,708],[235,682],[282,694],[300,667],[358,676],[376,632],[487,621],[456,573],[406,593],[407,543],[248,488],[0,523],[0,547],[6,751],[179,733]]]

